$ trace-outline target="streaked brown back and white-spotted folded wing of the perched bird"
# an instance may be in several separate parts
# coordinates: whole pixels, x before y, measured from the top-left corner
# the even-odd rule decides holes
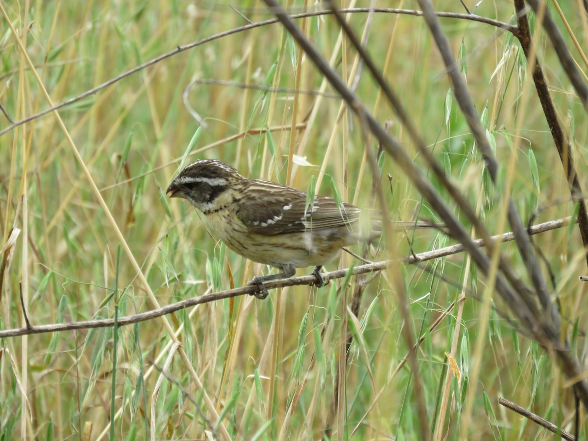
[[[237,217],[263,235],[335,228],[359,219],[359,208],[354,205],[338,205],[335,199],[315,196],[312,205],[306,206],[305,192],[275,182],[253,180],[244,191]]]

